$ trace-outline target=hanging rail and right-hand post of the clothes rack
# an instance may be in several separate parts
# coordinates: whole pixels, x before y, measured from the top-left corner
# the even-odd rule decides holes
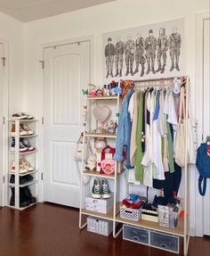
[[[142,79],[134,80],[134,89],[140,89],[144,87],[169,87],[174,86],[174,78],[180,81],[180,86],[184,85],[186,92],[186,108],[185,116],[188,116],[189,110],[189,93],[190,93],[190,78],[188,76],[182,77],[171,77],[171,78],[154,78],[154,79]],[[142,85],[147,84],[147,85]],[[188,122],[185,124],[185,145],[188,145]],[[183,227],[183,252],[184,255],[188,254],[188,248],[190,243],[190,217],[189,217],[189,193],[190,193],[190,182],[188,174],[188,153],[187,148],[185,149],[185,165],[184,165],[184,227]]]

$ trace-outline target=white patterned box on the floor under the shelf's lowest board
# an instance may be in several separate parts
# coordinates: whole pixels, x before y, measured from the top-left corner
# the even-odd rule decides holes
[[[112,221],[87,217],[87,231],[108,236],[113,230]]]

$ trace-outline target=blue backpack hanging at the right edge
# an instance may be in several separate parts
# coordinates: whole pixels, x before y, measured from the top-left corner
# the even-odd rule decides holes
[[[199,171],[198,190],[199,194],[206,194],[206,178],[210,178],[210,154],[208,154],[207,143],[203,143],[198,147],[196,166]],[[202,187],[203,182],[203,187]]]

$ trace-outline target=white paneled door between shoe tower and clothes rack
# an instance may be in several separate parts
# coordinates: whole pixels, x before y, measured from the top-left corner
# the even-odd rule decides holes
[[[79,207],[74,151],[90,82],[90,42],[44,49],[44,201]]]

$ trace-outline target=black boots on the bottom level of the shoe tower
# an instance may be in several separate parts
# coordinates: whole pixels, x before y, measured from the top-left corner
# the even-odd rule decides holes
[[[15,190],[11,187],[12,195],[10,200],[10,205],[14,206]],[[31,203],[36,202],[36,197],[31,194],[28,186],[20,187],[20,207],[27,207]]]

